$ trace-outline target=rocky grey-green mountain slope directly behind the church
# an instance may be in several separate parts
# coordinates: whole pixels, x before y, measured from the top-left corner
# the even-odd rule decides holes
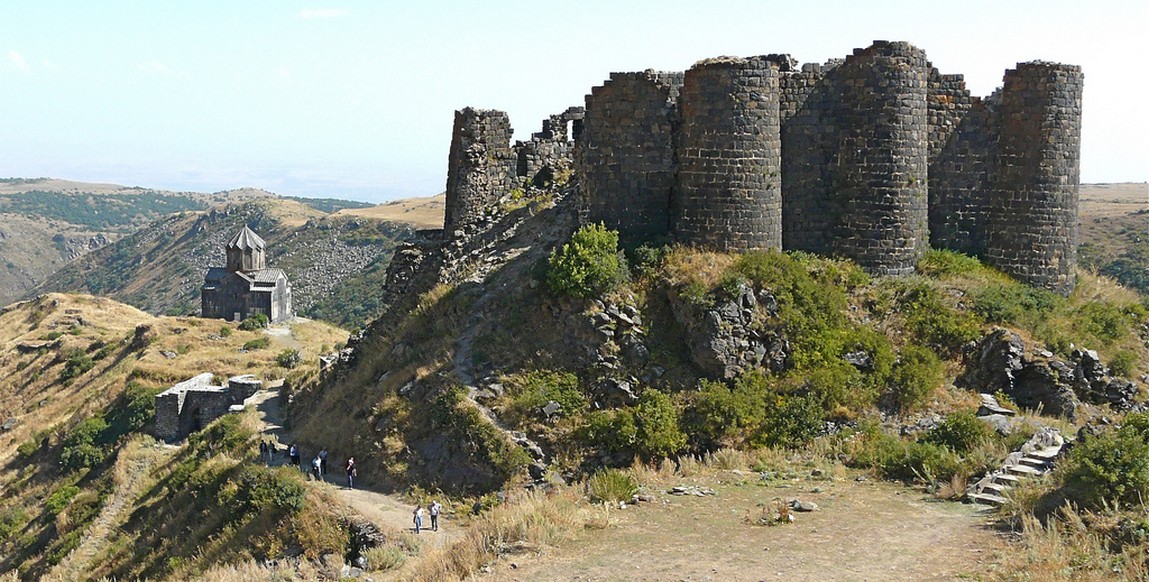
[[[224,246],[245,224],[267,241],[269,266],[287,272],[296,313],[347,326],[373,315],[386,262],[410,232],[401,223],[260,199],[161,218],[67,265],[31,294],[80,292],[152,313],[195,313],[203,274],[224,264]]]

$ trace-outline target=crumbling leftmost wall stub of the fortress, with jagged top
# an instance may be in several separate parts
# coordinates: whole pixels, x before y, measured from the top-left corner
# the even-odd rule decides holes
[[[470,107],[455,111],[444,218],[447,235],[473,224],[512,187],[511,135],[510,118],[503,111]]]

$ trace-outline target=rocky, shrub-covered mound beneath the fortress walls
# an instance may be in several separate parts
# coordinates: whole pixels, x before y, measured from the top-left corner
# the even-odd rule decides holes
[[[610,231],[576,230],[562,193],[489,216],[498,234],[425,250],[338,373],[294,395],[296,434],[346,443],[338,455],[361,456],[370,483],[484,494],[730,448],[812,447],[959,497],[1036,426],[1072,436],[1123,417],[1082,394],[1070,416],[1036,406],[1008,434],[976,420],[974,390],[1012,390],[971,380],[995,328],[1017,333],[1038,367],[1071,368],[1096,350],[1135,382],[1126,405],[1146,398],[1149,303],[1088,272],[1066,298],[948,251],[928,253],[916,276],[872,278],[801,253],[619,249]],[[1049,490],[1072,488],[1062,479]],[[1149,492],[1138,479],[1123,487]],[[1129,567],[1146,545],[1117,548],[1088,567]]]

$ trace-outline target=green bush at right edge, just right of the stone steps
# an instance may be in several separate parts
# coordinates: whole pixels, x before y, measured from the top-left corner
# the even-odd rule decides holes
[[[1138,507],[1149,500],[1149,413],[1074,447],[1062,475],[1065,497],[1087,509]]]

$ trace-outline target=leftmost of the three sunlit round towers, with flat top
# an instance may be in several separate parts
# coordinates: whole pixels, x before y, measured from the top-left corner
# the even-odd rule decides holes
[[[777,64],[701,61],[686,71],[678,103],[676,238],[714,250],[780,249]]]

